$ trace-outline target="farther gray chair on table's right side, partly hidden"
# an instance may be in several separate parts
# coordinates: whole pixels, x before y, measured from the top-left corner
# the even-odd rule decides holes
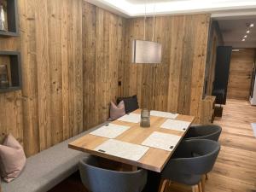
[[[184,139],[210,139],[218,142],[221,131],[222,128],[218,125],[190,126]]]

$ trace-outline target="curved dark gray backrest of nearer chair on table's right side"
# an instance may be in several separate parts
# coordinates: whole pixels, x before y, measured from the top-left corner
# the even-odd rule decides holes
[[[169,174],[203,175],[212,171],[218,157],[219,143],[207,139],[185,140],[179,144],[162,172]],[[195,155],[196,154],[196,155]]]

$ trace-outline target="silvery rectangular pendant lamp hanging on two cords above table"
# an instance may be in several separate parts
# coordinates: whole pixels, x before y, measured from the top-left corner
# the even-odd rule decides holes
[[[147,1],[147,0],[146,0]],[[154,3],[155,9],[155,3]],[[146,41],[146,20],[147,20],[147,2],[145,3],[145,15],[144,15],[144,38],[143,40],[134,39],[132,41],[132,63],[161,63],[162,60],[162,45],[154,42],[154,20],[153,19],[153,32],[152,40]],[[155,14],[154,14],[155,18]]]

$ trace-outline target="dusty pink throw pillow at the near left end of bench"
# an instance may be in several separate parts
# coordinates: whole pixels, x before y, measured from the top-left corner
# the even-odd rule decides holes
[[[0,145],[0,171],[3,180],[11,182],[20,175],[26,164],[26,155],[20,143],[9,134]]]

